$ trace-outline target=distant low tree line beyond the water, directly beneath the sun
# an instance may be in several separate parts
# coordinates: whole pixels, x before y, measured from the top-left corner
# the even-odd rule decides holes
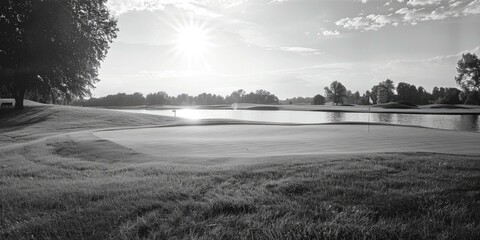
[[[211,93],[202,93],[197,96],[190,96],[186,93],[169,96],[166,92],[160,91],[150,93],[146,97],[142,93],[133,94],[117,93],[100,98],[88,100],[77,99],[72,105],[77,106],[139,106],[139,105],[216,105],[233,103],[256,103],[256,104],[278,104],[278,97],[267,90],[259,89],[247,93],[243,89],[232,92],[225,97]]]

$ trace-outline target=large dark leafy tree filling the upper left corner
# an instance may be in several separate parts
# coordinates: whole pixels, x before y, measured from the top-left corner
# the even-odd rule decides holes
[[[118,31],[107,0],[2,0],[0,87],[23,108],[26,91],[85,97]]]

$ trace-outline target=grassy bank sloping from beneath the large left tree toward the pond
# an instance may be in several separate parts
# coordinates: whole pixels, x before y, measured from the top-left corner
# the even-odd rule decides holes
[[[108,127],[159,125],[179,122],[172,117],[113,110],[36,105],[23,110],[0,109],[0,146],[42,137]]]

